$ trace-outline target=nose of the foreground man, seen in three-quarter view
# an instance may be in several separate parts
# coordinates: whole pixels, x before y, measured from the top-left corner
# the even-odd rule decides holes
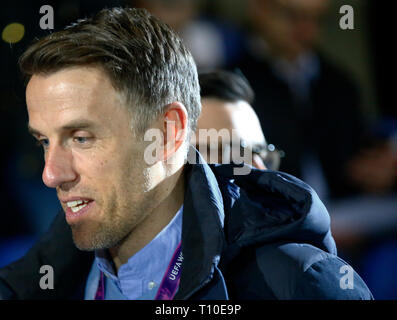
[[[61,146],[51,146],[48,149],[42,175],[47,187],[56,188],[77,178],[72,157],[72,153]]]

